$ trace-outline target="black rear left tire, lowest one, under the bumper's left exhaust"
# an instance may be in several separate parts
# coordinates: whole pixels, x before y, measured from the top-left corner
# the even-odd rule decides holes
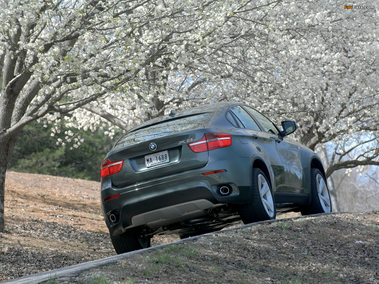
[[[141,237],[138,228],[128,229],[124,234],[118,236],[111,235],[111,241],[117,254],[128,253],[129,251],[141,250],[150,247],[150,238]]]

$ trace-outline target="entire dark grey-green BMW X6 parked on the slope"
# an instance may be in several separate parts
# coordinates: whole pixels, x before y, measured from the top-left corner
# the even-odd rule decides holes
[[[171,111],[127,131],[101,165],[101,203],[116,253],[154,235],[196,236],[289,211],[331,212],[318,155],[236,102]]]

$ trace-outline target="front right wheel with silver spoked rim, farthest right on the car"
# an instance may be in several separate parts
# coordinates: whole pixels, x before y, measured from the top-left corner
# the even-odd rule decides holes
[[[325,178],[319,169],[310,169],[311,203],[304,206],[301,215],[312,215],[332,212],[329,189]]]

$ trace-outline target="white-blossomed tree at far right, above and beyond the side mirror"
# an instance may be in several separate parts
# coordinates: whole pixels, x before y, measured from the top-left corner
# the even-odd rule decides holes
[[[291,3],[271,24],[276,84],[245,99],[298,122],[299,140],[322,154],[326,175],[379,165],[379,12],[332,1]],[[373,9],[376,8],[376,9]],[[260,73],[255,78],[260,80]]]

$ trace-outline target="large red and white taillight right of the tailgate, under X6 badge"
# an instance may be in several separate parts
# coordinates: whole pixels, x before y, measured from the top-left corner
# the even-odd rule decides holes
[[[232,145],[232,135],[226,133],[208,133],[202,139],[187,145],[195,153],[215,150]]]

